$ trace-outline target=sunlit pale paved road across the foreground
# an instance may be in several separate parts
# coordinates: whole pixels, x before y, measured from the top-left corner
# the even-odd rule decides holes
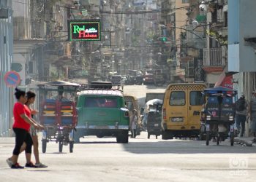
[[[60,154],[58,144],[51,142],[46,154],[40,154],[49,167],[23,170],[7,167],[14,140],[0,138],[0,181],[255,181],[255,147],[146,136],[143,132],[127,144],[91,136],[75,144],[72,154],[68,146]],[[21,154],[22,165],[24,158]]]

